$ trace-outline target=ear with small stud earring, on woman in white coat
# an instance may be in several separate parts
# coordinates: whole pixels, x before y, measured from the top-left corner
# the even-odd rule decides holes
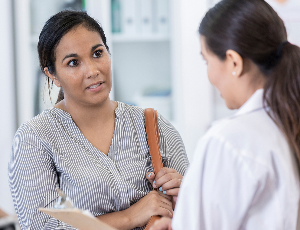
[[[227,50],[226,62],[228,65],[228,71],[230,71],[234,76],[240,77],[243,72],[243,58],[240,54],[234,50]]]

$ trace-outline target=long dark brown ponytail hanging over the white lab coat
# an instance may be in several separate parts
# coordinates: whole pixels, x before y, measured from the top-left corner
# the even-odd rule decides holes
[[[300,164],[300,48],[282,47],[279,63],[266,75],[264,106],[283,131]]]

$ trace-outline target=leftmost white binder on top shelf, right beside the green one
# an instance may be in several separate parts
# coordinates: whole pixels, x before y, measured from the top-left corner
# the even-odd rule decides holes
[[[134,35],[136,32],[135,0],[121,2],[122,32],[125,35]]]

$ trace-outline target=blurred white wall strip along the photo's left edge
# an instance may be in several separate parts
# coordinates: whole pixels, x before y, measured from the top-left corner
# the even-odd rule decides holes
[[[1,7],[5,10],[0,14],[0,208],[13,214],[15,209],[7,179],[8,159],[16,131],[11,1],[1,0]],[[26,57],[23,59],[25,61]]]

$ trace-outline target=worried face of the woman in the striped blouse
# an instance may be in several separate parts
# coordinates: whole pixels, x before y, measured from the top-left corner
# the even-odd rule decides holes
[[[65,34],[56,48],[55,68],[54,84],[63,88],[65,100],[86,106],[109,99],[110,56],[97,32],[80,26]]]

